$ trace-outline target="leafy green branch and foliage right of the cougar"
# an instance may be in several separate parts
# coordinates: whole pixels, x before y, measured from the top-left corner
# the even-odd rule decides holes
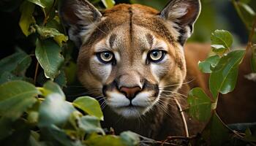
[[[256,142],[256,137],[250,132],[248,125],[233,125],[230,127],[244,128],[245,134],[239,134],[228,127],[219,118],[216,107],[220,98],[219,94],[230,93],[236,88],[238,67],[244,60],[246,51],[252,49],[252,71],[255,72],[255,45],[253,36],[256,29],[256,15],[252,8],[247,5],[248,1],[233,1],[241,19],[249,28],[250,36],[246,49],[231,50],[233,37],[228,31],[217,30],[211,34],[211,47],[214,54],[206,58],[206,61],[199,62],[201,72],[210,73],[209,88],[210,98],[201,88],[194,88],[187,99],[189,103],[189,114],[197,120],[207,121],[206,128],[202,131],[202,137],[211,145],[245,145],[246,142]],[[237,143],[237,139],[241,143]],[[249,138],[247,138],[249,137]],[[244,144],[242,144],[244,143]],[[251,143],[252,144],[252,143]]]

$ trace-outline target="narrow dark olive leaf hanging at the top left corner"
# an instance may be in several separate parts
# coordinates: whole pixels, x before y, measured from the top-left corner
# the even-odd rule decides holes
[[[36,20],[34,20],[33,12],[34,12],[34,4],[31,4],[29,1],[23,1],[23,3],[20,5],[20,28],[21,31],[23,31],[23,34],[26,35],[26,37],[31,34],[31,31],[29,31],[29,28],[32,23],[36,23]]]

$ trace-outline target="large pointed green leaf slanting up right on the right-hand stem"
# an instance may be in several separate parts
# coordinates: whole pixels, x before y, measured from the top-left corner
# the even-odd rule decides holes
[[[223,56],[210,75],[210,91],[217,99],[218,93],[229,93],[236,87],[238,66],[244,58],[245,50],[234,50]]]

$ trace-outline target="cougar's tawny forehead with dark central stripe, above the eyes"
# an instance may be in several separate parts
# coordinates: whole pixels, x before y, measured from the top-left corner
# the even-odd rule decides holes
[[[125,54],[123,57],[132,56],[129,60],[135,61],[135,55],[140,55],[139,52],[152,47],[153,43],[156,45],[154,47],[160,44],[165,46],[169,55],[173,55],[176,65],[185,69],[183,48],[177,42],[179,33],[175,27],[178,26],[165,22],[158,13],[156,9],[140,4],[119,4],[107,9],[102,13],[102,21],[92,26],[95,29],[91,36],[83,40],[78,56],[79,69],[84,71],[84,67],[89,67],[84,66],[89,65],[86,58],[91,58],[95,49],[100,50],[100,47],[121,51]]]

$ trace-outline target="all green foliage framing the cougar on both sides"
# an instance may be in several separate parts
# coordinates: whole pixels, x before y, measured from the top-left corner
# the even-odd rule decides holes
[[[33,45],[31,51],[17,47],[16,53],[0,61],[0,145],[139,145],[141,137],[138,134],[126,131],[116,136],[108,129],[102,129],[100,121],[104,117],[95,99],[80,96],[75,101],[67,101],[62,88],[74,81],[75,73],[71,71],[76,69],[72,56],[75,47],[59,20],[59,2],[10,0],[10,7],[0,7],[5,11],[19,7],[20,29]],[[115,4],[113,0],[91,2],[107,8]],[[147,2],[159,7],[167,1],[131,2]],[[216,112],[219,95],[236,88],[238,67],[250,49],[252,71],[256,72],[256,45],[252,41],[255,12],[249,7],[249,0],[232,2],[251,32],[249,43],[246,49],[233,50],[233,36],[229,31],[217,30],[211,34],[213,54],[198,64],[202,72],[210,74],[211,95],[201,88],[194,88],[187,99],[192,118],[205,121],[207,125],[200,137],[189,139],[191,144],[195,139],[200,145],[205,142],[211,145],[256,142],[253,129],[243,128],[243,134],[237,133],[232,130],[233,126],[223,123]],[[27,70],[34,72],[34,76],[29,76]],[[147,140],[157,143],[153,139]]]

